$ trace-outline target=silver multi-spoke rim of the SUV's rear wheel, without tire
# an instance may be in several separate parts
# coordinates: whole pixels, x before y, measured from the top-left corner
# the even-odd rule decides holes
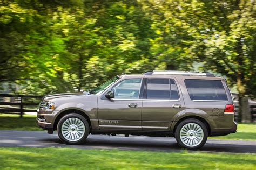
[[[180,130],[181,142],[190,147],[198,146],[204,138],[204,131],[196,123],[187,123]]]

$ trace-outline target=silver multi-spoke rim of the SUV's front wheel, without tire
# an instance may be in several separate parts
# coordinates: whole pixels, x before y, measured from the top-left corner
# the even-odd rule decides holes
[[[68,141],[78,141],[85,133],[85,125],[78,118],[66,119],[62,124],[62,135]]]

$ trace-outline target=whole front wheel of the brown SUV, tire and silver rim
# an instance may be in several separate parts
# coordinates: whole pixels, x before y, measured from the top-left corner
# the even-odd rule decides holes
[[[79,114],[68,114],[63,116],[57,125],[58,136],[66,144],[83,143],[89,132],[89,123]]]

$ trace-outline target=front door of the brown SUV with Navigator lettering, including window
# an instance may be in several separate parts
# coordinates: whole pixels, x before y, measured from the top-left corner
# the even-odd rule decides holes
[[[125,79],[112,91],[114,98],[98,99],[100,130],[142,130],[142,79]]]

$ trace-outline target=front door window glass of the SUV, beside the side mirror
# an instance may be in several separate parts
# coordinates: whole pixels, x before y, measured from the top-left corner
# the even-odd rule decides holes
[[[112,88],[114,98],[139,98],[142,79],[125,79]]]

